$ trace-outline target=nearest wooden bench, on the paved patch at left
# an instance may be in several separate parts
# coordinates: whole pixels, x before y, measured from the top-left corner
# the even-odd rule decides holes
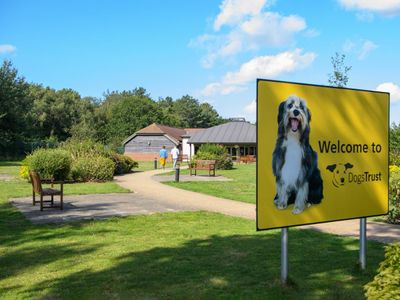
[[[53,208],[54,206],[54,196],[60,196],[60,209],[63,209],[63,197],[64,197],[64,182],[63,181],[54,181],[52,179],[40,179],[40,176],[35,171],[29,171],[29,176],[32,182],[32,204],[36,205],[36,203],[40,203],[40,211],[43,211],[43,208]],[[43,189],[42,183],[50,183],[51,188]],[[54,184],[60,184],[60,189],[53,189]],[[40,195],[40,201],[36,201],[35,195]],[[44,196],[50,196],[50,200],[43,200]],[[50,206],[44,206],[44,203],[50,203]]]

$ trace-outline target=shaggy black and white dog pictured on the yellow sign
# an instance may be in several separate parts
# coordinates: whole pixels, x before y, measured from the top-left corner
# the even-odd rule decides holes
[[[274,203],[278,209],[294,203],[294,214],[321,203],[323,198],[317,153],[309,143],[310,121],[311,113],[298,96],[289,96],[279,105],[278,138],[272,159],[277,188]]]

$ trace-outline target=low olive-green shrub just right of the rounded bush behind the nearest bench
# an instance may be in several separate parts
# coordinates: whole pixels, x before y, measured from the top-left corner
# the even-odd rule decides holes
[[[71,175],[77,181],[107,181],[113,179],[115,163],[100,155],[81,156],[72,162]]]

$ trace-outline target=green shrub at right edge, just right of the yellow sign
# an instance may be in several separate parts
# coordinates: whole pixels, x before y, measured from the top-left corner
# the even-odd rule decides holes
[[[391,167],[389,177],[389,214],[387,222],[400,224],[400,170]]]

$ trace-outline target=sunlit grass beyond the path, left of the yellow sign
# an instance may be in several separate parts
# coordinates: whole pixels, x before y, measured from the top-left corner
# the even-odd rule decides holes
[[[188,174],[188,170],[182,170]],[[208,174],[200,171],[198,174]],[[232,181],[191,181],[191,182],[163,182],[170,186],[212,195],[220,198],[256,203],[256,165],[238,164],[233,170],[217,170],[217,175],[225,176]]]

